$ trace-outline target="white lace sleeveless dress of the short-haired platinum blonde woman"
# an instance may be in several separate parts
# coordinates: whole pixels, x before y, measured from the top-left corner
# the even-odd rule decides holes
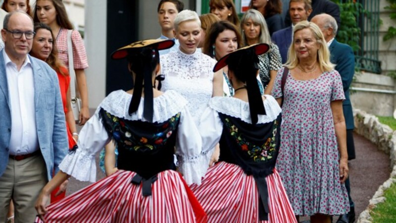
[[[179,50],[160,57],[161,74],[165,75],[161,91],[175,90],[187,99],[187,107],[198,126],[213,91],[213,67],[216,61],[198,52]]]

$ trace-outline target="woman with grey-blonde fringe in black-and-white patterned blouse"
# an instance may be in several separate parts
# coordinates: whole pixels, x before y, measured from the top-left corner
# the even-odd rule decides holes
[[[244,14],[241,20],[241,30],[244,45],[256,43],[267,43],[270,45],[268,53],[258,57],[260,60],[258,67],[261,83],[265,89],[264,94],[271,94],[276,73],[282,66],[279,48],[275,43],[271,42],[267,23],[263,15],[255,9],[249,9]]]

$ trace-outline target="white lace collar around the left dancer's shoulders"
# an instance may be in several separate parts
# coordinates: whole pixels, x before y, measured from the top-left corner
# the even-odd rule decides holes
[[[131,94],[123,90],[113,91],[100,103],[96,112],[99,112],[100,108],[103,108],[105,111],[120,118],[147,121],[143,117],[144,98],[140,101],[138,111],[129,115],[128,108],[131,100]],[[152,122],[164,122],[184,110],[186,106],[186,99],[176,91],[168,90],[154,98]]]

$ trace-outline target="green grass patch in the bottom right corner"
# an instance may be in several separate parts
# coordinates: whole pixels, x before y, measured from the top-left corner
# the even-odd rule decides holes
[[[370,212],[373,223],[396,222],[396,184],[385,190],[384,196],[386,197],[386,201],[378,204]]]

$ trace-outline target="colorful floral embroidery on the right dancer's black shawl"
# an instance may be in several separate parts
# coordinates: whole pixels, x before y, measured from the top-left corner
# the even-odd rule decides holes
[[[272,159],[276,152],[276,132],[278,127],[278,120],[274,121],[272,127],[272,136],[268,138],[264,144],[257,146],[252,142],[245,139],[243,134],[238,132],[237,126],[235,126],[229,118],[225,118],[225,125],[230,131],[231,136],[235,139],[236,143],[241,147],[243,151],[246,151],[250,158],[254,162],[268,161]]]

